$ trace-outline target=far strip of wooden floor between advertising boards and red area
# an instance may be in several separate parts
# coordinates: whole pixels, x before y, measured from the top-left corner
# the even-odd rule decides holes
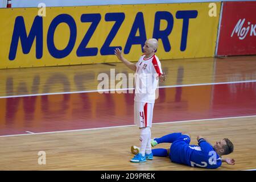
[[[256,80],[256,56],[177,59],[161,63],[168,79],[159,86]],[[122,63],[0,69],[0,97],[97,90],[101,82],[97,80],[98,75],[110,75],[110,69],[115,69],[115,75],[133,73]]]

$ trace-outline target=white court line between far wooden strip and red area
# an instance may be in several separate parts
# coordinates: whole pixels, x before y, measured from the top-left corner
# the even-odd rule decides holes
[[[216,82],[216,83],[206,83],[206,84],[189,84],[189,85],[170,85],[170,86],[158,86],[159,89],[162,88],[176,88],[184,86],[203,86],[203,85],[221,85],[221,84],[242,84],[247,82],[256,82],[256,80],[246,80],[246,81],[231,81],[231,82]],[[56,94],[75,94],[75,93],[90,93],[90,92],[111,92],[111,91],[122,91],[122,90],[134,90],[134,88],[125,89],[102,89],[102,90],[85,90],[76,92],[56,92],[56,93],[39,93],[39,94],[26,94],[19,96],[1,96],[0,98],[14,98],[14,97],[31,97],[31,96],[48,96]]]

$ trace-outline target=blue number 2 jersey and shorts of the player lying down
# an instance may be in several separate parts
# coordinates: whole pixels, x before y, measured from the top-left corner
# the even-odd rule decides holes
[[[213,147],[204,139],[199,140],[199,145],[190,145],[191,139],[187,135],[181,135],[172,143],[170,159],[172,162],[186,164],[192,167],[218,168],[221,166],[221,158]]]

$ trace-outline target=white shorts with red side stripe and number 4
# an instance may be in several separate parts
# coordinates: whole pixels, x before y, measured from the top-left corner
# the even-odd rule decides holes
[[[138,127],[151,127],[154,103],[134,102],[134,124]]]

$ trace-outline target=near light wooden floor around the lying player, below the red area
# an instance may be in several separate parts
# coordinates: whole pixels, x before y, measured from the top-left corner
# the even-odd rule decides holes
[[[229,155],[236,164],[212,170],[243,170],[256,167],[256,117],[164,123],[152,126],[152,137],[172,132],[191,133],[191,144],[197,135],[214,143],[229,138],[234,152]],[[207,170],[155,157],[146,163],[130,163],[130,146],[139,144],[136,126],[72,131],[65,133],[0,137],[0,170]],[[156,147],[168,147],[159,144]],[[46,165],[38,164],[38,152],[46,152]]]

